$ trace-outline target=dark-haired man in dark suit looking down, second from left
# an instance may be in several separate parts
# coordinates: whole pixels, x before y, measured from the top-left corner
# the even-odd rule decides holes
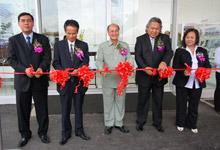
[[[72,98],[74,99],[75,108],[75,135],[80,136],[83,140],[89,140],[83,129],[83,112],[82,106],[85,92],[88,88],[83,87],[83,82],[78,88],[78,92],[74,93],[76,86],[79,84],[77,77],[77,69],[83,65],[89,65],[89,52],[87,43],[80,41],[77,38],[79,24],[75,20],[67,20],[64,24],[66,39],[55,43],[54,45],[54,61],[53,67],[58,70],[74,68],[69,74],[69,80],[66,86],[60,90],[60,85],[57,85],[57,91],[60,93],[62,105],[62,138],[60,144],[66,144],[72,134],[72,125],[70,121],[70,111]],[[82,54],[80,57],[79,53]]]

